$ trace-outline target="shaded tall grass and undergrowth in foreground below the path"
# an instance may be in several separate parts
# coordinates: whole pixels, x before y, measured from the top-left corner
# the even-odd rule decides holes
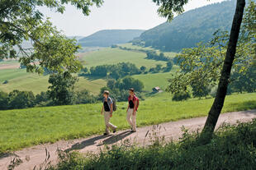
[[[255,127],[255,120],[223,125],[208,145],[198,145],[199,134],[183,129],[178,142],[159,145],[162,136],[156,136],[147,147],[124,143],[101,154],[62,154],[58,165],[50,169],[254,169]]]

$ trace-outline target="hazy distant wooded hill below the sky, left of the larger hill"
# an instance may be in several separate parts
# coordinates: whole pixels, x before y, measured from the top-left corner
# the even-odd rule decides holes
[[[83,39],[78,43],[83,47],[108,47],[112,44],[124,44],[139,37],[145,30],[100,30]]]

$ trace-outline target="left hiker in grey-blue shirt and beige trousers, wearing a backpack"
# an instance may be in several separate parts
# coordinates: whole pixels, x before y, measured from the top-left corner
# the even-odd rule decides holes
[[[105,118],[105,125],[106,125],[106,130],[105,133],[103,134],[104,136],[107,136],[110,134],[109,127],[113,130],[113,133],[116,133],[116,126],[112,125],[110,121],[110,117],[112,117],[113,113],[113,101],[109,97],[109,91],[105,90],[103,92],[103,97],[102,99],[102,114],[104,113],[104,118]]]

